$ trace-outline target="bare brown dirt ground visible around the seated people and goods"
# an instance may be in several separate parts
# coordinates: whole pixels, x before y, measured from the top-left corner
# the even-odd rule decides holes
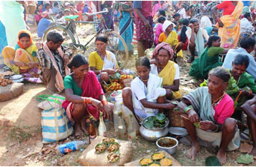
[[[35,41],[37,39],[37,27],[31,27],[31,32]],[[81,43],[87,41],[87,37],[92,34],[90,25],[79,25],[78,35],[82,36]],[[131,56],[128,62],[128,68],[134,69],[134,61],[136,59],[136,51],[134,48],[134,56]],[[152,55],[153,49],[147,50],[147,56]],[[184,52],[184,59],[178,59],[178,65],[181,71],[181,94],[197,87],[191,82],[188,71],[190,64],[186,62],[187,51]],[[3,63],[0,56],[0,64]],[[35,97],[41,94],[51,94],[45,85],[25,83],[24,92],[7,102],[0,103],[0,166],[80,166],[78,157],[82,151],[73,151],[69,154],[62,155],[52,151],[54,145],[43,145],[41,134],[41,111],[37,108],[37,100]],[[113,133],[113,127],[107,134],[109,137],[116,137]],[[67,140],[87,140],[87,137],[76,139],[71,136]],[[62,142],[62,143],[63,143]],[[84,149],[87,145],[84,146]],[[43,149],[42,149],[43,148]],[[133,144],[133,160],[140,159],[146,154],[152,154],[157,151],[157,146],[138,137],[137,142]],[[179,144],[176,153],[173,155],[182,166],[205,166],[205,159],[208,156],[216,154],[216,148],[202,147],[198,153],[196,161],[187,159],[185,151],[189,146]],[[225,166],[243,166],[237,164],[236,159],[240,155],[240,151],[228,152],[228,160]],[[256,166],[251,163],[249,166]]]

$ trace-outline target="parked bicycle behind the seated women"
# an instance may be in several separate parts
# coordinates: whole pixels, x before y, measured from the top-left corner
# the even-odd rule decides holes
[[[128,48],[125,43],[125,40],[122,38],[122,36],[119,35],[119,33],[116,33],[115,31],[111,29],[107,29],[107,26],[104,22],[104,18],[102,17],[102,13],[107,13],[107,9],[103,10],[101,12],[97,13],[84,13],[86,15],[96,15],[99,18],[100,22],[84,22],[84,21],[75,21],[75,19],[78,19],[78,15],[75,16],[65,16],[66,19],[66,24],[60,24],[55,22],[52,24],[44,33],[43,35],[43,42],[46,41],[47,34],[51,30],[58,30],[60,33],[62,33],[63,37],[65,38],[63,45],[69,46],[69,48],[72,49],[72,53],[75,53],[75,51],[78,51],[78,48],[80,48],[82,51],[90,50],[92,51],[93,49],[90,49],[89,44],[90,42],[93,41],[96,36],[99,35],[99,33],[103,33],[105,36],[108,37],[108,45],[107,45],[107,50],[110,50],[112,53],[116,55],[116,59],[120,60],[122,53],[119,51],[119,45],[122,43],[122,45],[125,48],[125,62],[122,63],[122,65],[119,65],[121,69],[125,68],[125,66],[128,64]],[[83,14],[83,15],[84,15]],[[91,39],[85,44],[82,45],[78,33],[76,33],[76,27],[75,23],[81,23],[81,24],[101,24],[102,27],[96,32],[96,34],[93,35]],[[95,47],[93,47],[95,48]],[[96,49],[94,49],[96,50]],[[89,52],[87,52],[87,57],[89,57]]]

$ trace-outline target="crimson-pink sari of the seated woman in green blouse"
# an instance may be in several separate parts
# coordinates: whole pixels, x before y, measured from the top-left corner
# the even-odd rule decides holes
[[[93,71],[88,71],[88,73],[84,76],[82,89],[83,93],[81,96],[84,97],[92,97],[93,99],[99,99],[100,95],[104,95],[102,86],[99,83],[96,74]],[[65,100],[62,103],[62,107],[66,109],[66,114],[72,121],[73,102]],[[99,119],[99,111],[97,111],[97,108],[95,106],[87,105],[87,111],[95,119]]]

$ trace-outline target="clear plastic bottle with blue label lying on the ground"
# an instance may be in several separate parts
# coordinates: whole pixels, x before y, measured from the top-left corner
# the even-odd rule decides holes
[[[87,140],[72,141],[69,143],[64,143],[62,145],[57,145],[57,147],[55,149],[57,150],[57,152],[59,152],[61,154],[67,154],[71,151],[80,149],[86,143],[87,143]]]

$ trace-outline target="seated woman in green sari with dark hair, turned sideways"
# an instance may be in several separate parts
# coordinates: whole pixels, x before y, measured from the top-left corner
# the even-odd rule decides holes
[[[207,79],[211,69],[222,66],[219,54],[227,52],[228,49],[220,48],[219,36],[210,36],[207,41],[207,47],[191,65],[190,76],[194,76],[196,79]]]

